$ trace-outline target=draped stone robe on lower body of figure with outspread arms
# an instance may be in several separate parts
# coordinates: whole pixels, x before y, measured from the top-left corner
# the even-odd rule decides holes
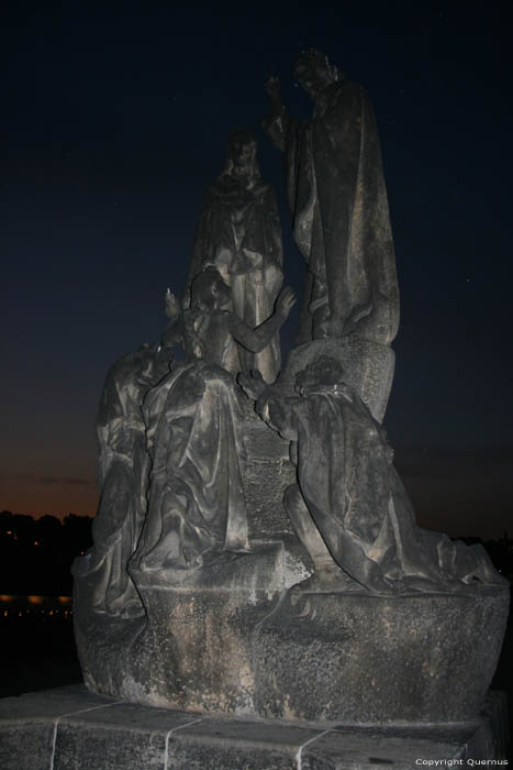
[[[144,409],[153,466],[141,568],[191,568],[247,550],[244,416],[233,377],[203,361],[185,364],[148,394]]]

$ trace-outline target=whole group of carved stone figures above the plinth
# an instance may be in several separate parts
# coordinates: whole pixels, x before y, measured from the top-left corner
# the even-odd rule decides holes
[[[399,294],[371,106],[320,52],[299,56],[295,78],[311,119],[289,114],[272,77],[264,120],[286,157],[308,263],[295,346],[282,367],[279,330],[295,298],[281,289],[275,193],[253,134],[237,131],[204,194],[181,301],[168,292],[161,339],[120,359],[105,381],[93,548],[74,566],[93,586],[96,613],[141,614],[137,571],[161,584],[252,553],[252,420],[290,442],[295,479],[278,504],[310,560],[299,590],[389,595],[502,581],[482,549],[415,525],[381,427]]]

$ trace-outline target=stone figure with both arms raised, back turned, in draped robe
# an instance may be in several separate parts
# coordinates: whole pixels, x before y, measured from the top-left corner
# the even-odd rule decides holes
[[[215,268],[191,286],[185,312],[188,362],[145,399],[153,465],[148,514],[134,557],[143,570],[199,566],[248,550],[243,491],[244,411],[234,381],[239,345],[258,353],[294,301],[285,289],[276,312],[257,329],[232,311],[232,293]]]

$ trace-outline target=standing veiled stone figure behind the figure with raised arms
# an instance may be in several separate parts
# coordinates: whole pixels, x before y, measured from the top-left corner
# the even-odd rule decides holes
[[[260,178],[256,140],[249,131],[236,131],[223,173],[203,196],[185,306],[192,280],[214,266],[232,288],[234,312],[254,329],[272,315],[282,261],[276,197]],[[239,360],[243,371],[258,369],[266,382],[274,382],[281,364],[278,334],[258,353],[239,345]]]

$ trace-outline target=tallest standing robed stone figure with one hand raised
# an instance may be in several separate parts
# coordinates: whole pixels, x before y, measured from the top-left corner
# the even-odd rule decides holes
[[[312,118],[288,112],[272,77],[264,128],[286,155],[294,239],[308,262],[297,343],[355,333],[388,344],[399,294],[371,105],[319,51],[300,54],[295,78],[314,101]]]

